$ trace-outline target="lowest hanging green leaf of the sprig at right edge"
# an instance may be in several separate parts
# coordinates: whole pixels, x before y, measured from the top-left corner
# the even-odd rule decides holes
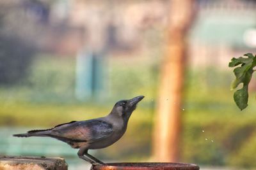
[[[245,109],[248,106],[248,86],[245,85],[242,89],[234,92],[234,101],[240,110]]]

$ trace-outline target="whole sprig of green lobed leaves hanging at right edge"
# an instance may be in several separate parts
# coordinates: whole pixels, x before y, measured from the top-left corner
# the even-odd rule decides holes
[[[240,65],[240,66],[239,66]],[[231,90],[237,88],[240,83],[243,83],[243,87],[234,92],[234,101],[240,110],[243,110],[248,106],[248,85],[252,79],[252,74],[255,71],[253,67],[256,66],[256,55],[252,53],[246,53],[242,57],[232,58],[228,64],[228,67],[235,67],[234,74],[236,79],[231,83]]]

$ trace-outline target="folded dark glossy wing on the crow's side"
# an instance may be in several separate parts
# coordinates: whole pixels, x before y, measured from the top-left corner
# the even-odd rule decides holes
[[[51,129],[51,135],[56,138],[87,141],[88,143],[108,138],[112,133],[112,125],[100,119],[72,121],[67,124],[56,125]]]

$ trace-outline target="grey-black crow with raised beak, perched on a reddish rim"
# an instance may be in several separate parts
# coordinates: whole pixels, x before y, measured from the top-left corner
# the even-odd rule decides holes
[[[56,125],[51,129],[31,130],[24,134],[13,134],[15,137],[51,137],[63,141],[72,148],[79,149],[77,155],[93,166],[104,162],[93,157],[88,150],[106,148],[120,139],[126,129],[132,112],[144,96],[120,100],[106,117],[83,121],[72,121]]]

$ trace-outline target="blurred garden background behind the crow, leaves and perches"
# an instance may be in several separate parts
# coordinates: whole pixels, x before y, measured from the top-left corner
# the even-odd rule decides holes
[[[104,162],[188,162],[256,169],[256,81],[239,111],[228,61],[256,52],[256,1],[1,0],[0,155],[64,157],[29,129],[102,117],[143,95]]]

